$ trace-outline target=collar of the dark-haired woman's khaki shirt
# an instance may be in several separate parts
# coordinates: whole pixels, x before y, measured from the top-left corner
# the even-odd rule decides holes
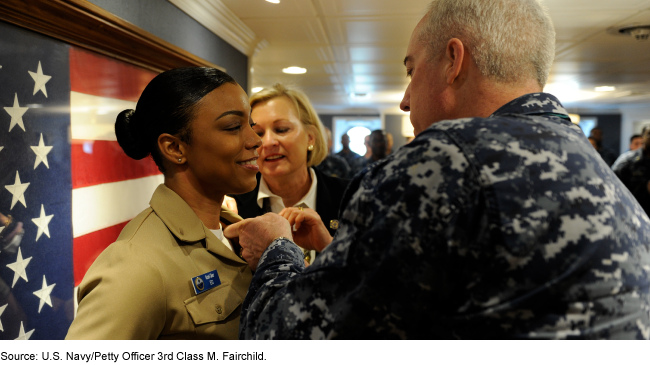
[[[210,232],[210,229],[201,222],[183,198],[164,184],[156,188],[149,205],[167,226],[169,231],[179,240],[192,243],[205,239],[206,249],[208,251],[229,260],[245,264],[245,261],[237,257],[217,236]],[[242,217],[233,213],[225,206],[221,206],[221,218],[230,223],[242,220]],[[222,226],[224,228],[227,227],[225,224],[222,224]]]

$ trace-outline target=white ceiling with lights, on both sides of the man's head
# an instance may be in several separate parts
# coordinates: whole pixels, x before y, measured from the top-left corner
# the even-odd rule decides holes
[[[268,45],[251,86],[304,90],[321,113],[394,113],[408,84],[402,60],[429,0],[221,0]],[[609,28],[650,24],[650,0],[546,0],[557,32],[548,89],[573,108],[650,104],[650,41]],[[282,68],[307,68],[286,75]],[[596,93],[596,86],[617,90]],[[368,93],[366,99],[351,93]]]

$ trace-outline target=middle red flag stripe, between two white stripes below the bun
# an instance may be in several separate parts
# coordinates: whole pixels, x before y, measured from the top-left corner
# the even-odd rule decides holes
[[[153,159],[133,160],[115,141],[72,140],[71,157],[73,189],[160,174]]]

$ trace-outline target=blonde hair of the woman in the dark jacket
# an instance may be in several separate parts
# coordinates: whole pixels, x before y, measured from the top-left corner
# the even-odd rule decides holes
[[[293,103],[298,119],[302,122],[307,132],[314,136],[314,149],[307,151],[307,166],[316,166],[327,157],[327,142],[325,140],[325,127],[321,123],[316,110],[311,105],[309,98],[300,90],[290,89],[282,84],[275,84],[272,87],[264,88],[262,91],[253,94],[250,99],[251,108],[256,104],[263,103],[275,98],[285,97]]]

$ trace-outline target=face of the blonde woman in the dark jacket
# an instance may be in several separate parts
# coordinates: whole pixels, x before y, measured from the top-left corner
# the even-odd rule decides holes
[[[262,137],[258,165],[265,179],[307,171],[307,148],[314,144],[314,137],[290,99],[277,97],[257,103],[251,117],[253,130]]]

